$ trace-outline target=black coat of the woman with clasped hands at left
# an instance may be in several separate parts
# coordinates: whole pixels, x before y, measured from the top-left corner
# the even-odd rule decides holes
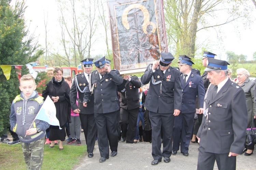
[[[55,78],[53,77],[52,80],[47,83],[46,89],[42,92],[44,100],[47,96],[50,98],[53,96],[59,97],[59,101],[54,103],[54,105],[56,107],[56,117],[59,120],[60,126],[63,126],[68,121],[68,117],[70,117],[69,93],[70,87],[63,77],[60,82],[55,81]]]

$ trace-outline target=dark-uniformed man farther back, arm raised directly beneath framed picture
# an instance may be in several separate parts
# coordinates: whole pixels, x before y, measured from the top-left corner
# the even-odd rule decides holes
[[[121,141],[124,142],[126,140],[126,143],[133,143],[134,140],[140,108],[140,87],[141,82],[136,75],[125,75],[123,85],[119,87]]]

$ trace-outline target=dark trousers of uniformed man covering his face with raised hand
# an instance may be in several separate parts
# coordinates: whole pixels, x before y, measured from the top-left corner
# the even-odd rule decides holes
[[[116,130],[116,114],[118,111],[110,113],[94,113],[95,122],[98,129],[98,145],[101,157],[109,156],[109,146],[111,151],[117,151],[118,133]]]

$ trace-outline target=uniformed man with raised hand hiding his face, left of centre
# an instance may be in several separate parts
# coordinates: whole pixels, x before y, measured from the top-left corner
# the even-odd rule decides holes
[[[96,71],[90,76],[90,83],[84,94],[84,106],[94,102],[94,117],[98,129],[98,144],[100,150],[99,162],[109,159],[109,146],[111,156],[116,156],[118,134],[116,130],[116,114],[119,110],[117,86],[123,83],[118,70],[111,70],[106,66],[105,57],[94,62]],[[91,98],[94,96],[94,101]]]

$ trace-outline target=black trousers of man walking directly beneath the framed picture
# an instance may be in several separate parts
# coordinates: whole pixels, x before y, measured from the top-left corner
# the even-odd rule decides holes
[[[126,137],[126,143],[133,143],[137,127],[139,107],[135,109],[120,109],[120,126],[122,137]],[[129,125],[129,126],[128,126]],[[128,130],[127,130],[128,126]]]

